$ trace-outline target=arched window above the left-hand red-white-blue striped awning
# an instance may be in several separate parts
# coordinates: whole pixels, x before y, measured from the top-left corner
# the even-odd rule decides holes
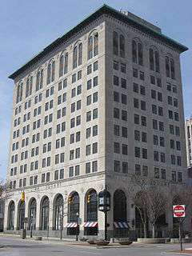
[[[70,200],[68,202],[68,222],[76,222],[77,214],[79,214],[79,196],[78,192],[74,192],[70,195]]]

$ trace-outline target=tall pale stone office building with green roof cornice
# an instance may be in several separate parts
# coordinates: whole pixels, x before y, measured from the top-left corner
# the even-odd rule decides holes
[[[105,187],[109,234],[126,234],[128,222],[139,229],[130,174],[186,180],[186,50],[159,27],[104,5],[10,75],[7,232],[27,218],[36,234],[73,235],[81,218],[81,235],[102,236]]]

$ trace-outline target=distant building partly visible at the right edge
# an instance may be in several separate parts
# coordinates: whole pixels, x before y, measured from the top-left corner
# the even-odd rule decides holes
[[[186,159],[187,167],[192,166],[192,117],[186,119]]]

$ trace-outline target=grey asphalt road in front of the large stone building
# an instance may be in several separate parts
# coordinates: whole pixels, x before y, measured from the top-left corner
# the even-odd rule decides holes
[[[21,238],[0,237],[0,256],[159,256],[178,250],[178,245],[130,246],[129,248],[97,249],[70,243],[36,242]],[[185,247],[192,248],[192,244]],[[172,254],[178,255],[178,254]],[[192,254],[191,254],[192,255]]]

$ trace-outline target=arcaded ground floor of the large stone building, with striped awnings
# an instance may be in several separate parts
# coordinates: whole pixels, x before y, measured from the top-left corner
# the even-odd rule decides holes
[[[127,183],[126,183],[127,184]],[[142,221],[126,186],[107,185],[111,196],[107,216],[108,238],[143,237]],[[102,176],[78,182],[53,183],[25,190],[15,190],[6,200],[4,232],[56,238],[104,238],[105,214],[98,210],[98,193],[106,187]],[[172,208],[158,221],[157,236],[169,237],[174,223]],[[148,226],[150,232],[150,226]]]

